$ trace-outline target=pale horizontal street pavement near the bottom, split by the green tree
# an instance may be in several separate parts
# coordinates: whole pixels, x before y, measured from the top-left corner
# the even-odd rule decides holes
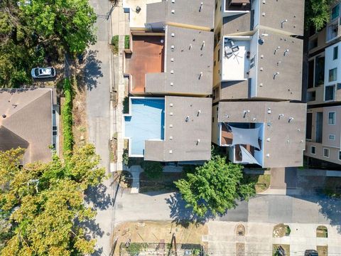
[[[131,194],[120,188],[115,200],[115,223],[134,220],[192,219],[189,208],[176,193]],[[330,224],[341,233],[341,200],[325,196],[256,196],[242,201],[219,221],[252,223]]]

